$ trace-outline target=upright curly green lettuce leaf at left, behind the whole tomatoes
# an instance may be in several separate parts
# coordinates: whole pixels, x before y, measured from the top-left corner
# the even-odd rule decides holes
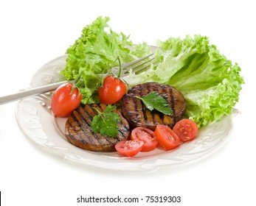
[[[66,50],[66,66],[60,74],[69,81],[75,79],[75,86],[83,94],[83,104],[99,102],[99,74],[107,74],[118,65],[117,57],[121,63],[127,63],[149,51],[145,43],[134,48],[129,36],[114,32],[108,26],[109,20],[108,17],[98,17],[85,26],[80,38]]]

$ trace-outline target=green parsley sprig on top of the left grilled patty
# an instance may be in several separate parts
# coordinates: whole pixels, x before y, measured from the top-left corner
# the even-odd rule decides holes
[[[96,107],[93,107],[97,110]],[[116,107],[114,105],[108,104],[103,112],[97,110],[98,115],[94,116],[91,121],[91,129],[93,132],[100,132],[102,135],[117,137],[118,135],[118,125],[120,122],[120,116],[113,112]]]

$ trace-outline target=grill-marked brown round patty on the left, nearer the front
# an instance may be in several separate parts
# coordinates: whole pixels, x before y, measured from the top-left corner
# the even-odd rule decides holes
[[[75,146],[95,152],[111,152],[114,151],[114,145],[118,141],[127,140],[130,134],[128,121],[123,118],[120,112],[116,110],[121,118],[118,123],[119,132],[117,138],[105,137],[100,132],[94,133],[91,129],[91,121],[97,110],[103,112],[105,104],[85,104],[77,107],[66,121],[66,138]]]

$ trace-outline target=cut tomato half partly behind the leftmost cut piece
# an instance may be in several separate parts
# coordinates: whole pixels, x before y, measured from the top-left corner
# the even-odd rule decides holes
[[[144,127],[136,127],[131,131],[132,141],[142,141],[144,142],[141,152],[149,152],[156,149],[158,141],[156,140],[156,135],[151,129]]]

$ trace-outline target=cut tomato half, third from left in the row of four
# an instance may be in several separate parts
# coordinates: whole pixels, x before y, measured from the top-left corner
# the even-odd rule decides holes
[[[156,126],[155,135],[157,141],[164,147],[165,150],[174,149],[181,144],[178,135],[173,132],[173,129],[166,125],[159,124]]]

